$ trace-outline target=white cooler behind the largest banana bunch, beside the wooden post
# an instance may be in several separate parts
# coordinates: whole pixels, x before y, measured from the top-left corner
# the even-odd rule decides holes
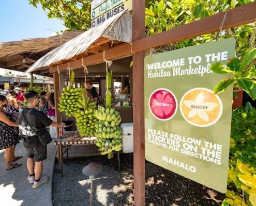
[[[120,128],[123,130],[123,152],[133,152],[133,123],[123,123]]]

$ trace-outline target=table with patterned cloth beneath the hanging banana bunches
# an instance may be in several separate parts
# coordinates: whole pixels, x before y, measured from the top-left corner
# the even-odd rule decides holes
[[[67,152],[67,165],[68,165],[68,150],[74,146],[74,145],[90,145],[96,143],[96,136],[92,136],[91,138],[88,138],[87,136],[81,136],[79,131],[65,131],[63,138],[58,138],[54,140],[54,145],[59,146],[59,159],[60,159],[60,165],[61,165],[61,177],[63,177],[63,156]],[[66,147],[65,150],[63,150],[63,146]],[[119,158],[119,151],[117,152],[117,160],[118,160],[118,167],[119,170],[121,169],[120,166],[120,158]]]

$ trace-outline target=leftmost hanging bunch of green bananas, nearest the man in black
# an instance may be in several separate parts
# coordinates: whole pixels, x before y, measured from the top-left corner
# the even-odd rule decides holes
[[[66,112],[67,116],[74,116],[78,109],[77,103],[82,100],[82,90],[73,88],[74,84],[74,70],[71,72],[70,85],[67,88],[63,88],[62,97],[59,97],[59,108],[60,112]]]

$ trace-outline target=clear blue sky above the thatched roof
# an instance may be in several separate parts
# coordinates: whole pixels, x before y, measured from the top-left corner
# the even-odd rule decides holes
[[[28,0],[2,0],[0,28],[0,42],[50,37],[53,31],[65,30],[61,20],[48,19],[46,11]]]

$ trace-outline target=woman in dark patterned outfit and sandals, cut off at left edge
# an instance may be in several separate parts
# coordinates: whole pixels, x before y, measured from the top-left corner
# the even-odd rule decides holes
[[[6,170],[9,170],[21,166],[21,164],[12,164],[11,162],[22,157],[14,156],[16,144],[19,143],[19,136],[13,132],[13,129],[19,125],[17,119],[4,110],[7,104],[6,96],[0,95],[0,150],[5,149]]]

